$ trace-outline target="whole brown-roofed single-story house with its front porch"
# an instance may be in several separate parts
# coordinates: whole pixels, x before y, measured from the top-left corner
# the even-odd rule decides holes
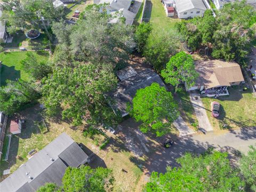
[[[206,95],[209,97],[213,97],[219,88],[225,90],[220,95],[228,95],[228,86],[239,85],[244,81],[241,68],[236,62],[198,60],[195,61],[195,69],[199,77],[196,79],[195,85],[187,87],[187,91],[200,90],[201,93],[209,94]]]

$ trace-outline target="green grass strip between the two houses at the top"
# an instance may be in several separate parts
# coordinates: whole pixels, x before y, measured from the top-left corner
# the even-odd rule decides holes
[[[160,33],[163,29],[173,28],[175,23],[180,21],[180,19],[166,17],[164,5],[160,0],[147,1],[144,18],[149,19],[153,29]]]

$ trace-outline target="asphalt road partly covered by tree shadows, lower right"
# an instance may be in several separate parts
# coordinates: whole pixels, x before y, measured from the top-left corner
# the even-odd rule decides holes
[[[250,145],[256,145],[256,127],[243,128],[237,131],[216,134],[188,135],[175,141],[175,145],[169,149],[159,148],[158,151],[147,161],[145,174],[152,171],[165,172],[166,166],[178,166],[175,159],[182,156],[186,151],[203,153],[207,148],[214,147],[220,151],[227,151],[231,163],[237,163],[237,150],[247,153]]]

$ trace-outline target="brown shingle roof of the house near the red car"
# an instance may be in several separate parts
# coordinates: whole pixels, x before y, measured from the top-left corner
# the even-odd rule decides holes
[[[244,81],[240,66],[236,62],[223,60],[195,61],[195,69],[199,73],[197,86],[206,89],[215,86],[230,86],[232,82]]]

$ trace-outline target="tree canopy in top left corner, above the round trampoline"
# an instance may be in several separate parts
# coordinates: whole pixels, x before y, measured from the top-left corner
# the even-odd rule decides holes
[[[7,23],[7,31],[14,34],[20,29],[41,29],[42,21],[38,13],[44,17],[46,23],[51,23],[63,17],[63,9],[54,9],[51,0],[3,0],[1,20]]]

